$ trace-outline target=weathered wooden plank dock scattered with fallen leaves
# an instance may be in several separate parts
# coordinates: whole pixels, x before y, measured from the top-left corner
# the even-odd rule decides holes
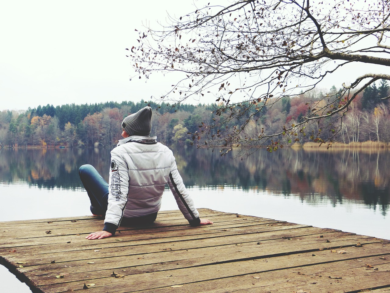
[[[92,216],[0,222],[0,261],[40,293],[390,292],[390,241],[333,229],[199,209],[154,225],[103,227]]]

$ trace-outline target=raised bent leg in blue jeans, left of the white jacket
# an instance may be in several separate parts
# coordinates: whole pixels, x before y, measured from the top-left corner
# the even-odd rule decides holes
[[[108,183],[92,165],[81,166],[78,175],[91,201],[92,214],[104,216],[108,205]]]

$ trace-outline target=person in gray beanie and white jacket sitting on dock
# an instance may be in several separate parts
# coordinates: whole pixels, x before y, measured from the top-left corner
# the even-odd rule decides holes
[[[122,121],[122,137],[111,151],[111,170],[107,182],[91,165],[79,169],[80,179],[90,198],[94,216],[105,215],[102,231],[86,239],[115,235],[121,223],[145,225],[156,220],[165,184],[191,226],[213,224],[200,219],[177,170],[176,160],[165,145],[151,137],[152,109],[147,106]]]

